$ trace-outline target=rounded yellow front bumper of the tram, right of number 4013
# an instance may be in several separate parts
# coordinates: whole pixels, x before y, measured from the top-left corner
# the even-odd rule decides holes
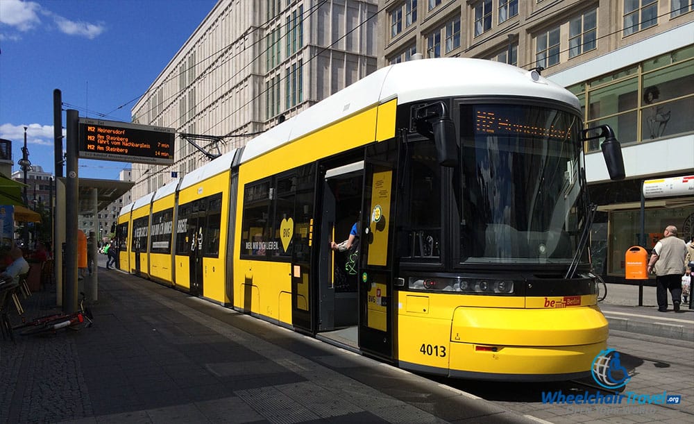
[[[449,375],[550,380],[587,374],[605,348],[607,320],[595,306],[564,309],[458,307]]]

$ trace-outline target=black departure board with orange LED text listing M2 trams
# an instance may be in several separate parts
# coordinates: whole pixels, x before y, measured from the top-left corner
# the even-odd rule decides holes
[[[79,157],[170,165],[174,163],[174,128],[80,118]]]

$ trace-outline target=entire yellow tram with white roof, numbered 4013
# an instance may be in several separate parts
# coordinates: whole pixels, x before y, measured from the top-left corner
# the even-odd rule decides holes
[[[121,269],[402,368],[582,377],[607,340],[584,140],[623,178],[582,128],[536,71],[384,67],[126,206]]]

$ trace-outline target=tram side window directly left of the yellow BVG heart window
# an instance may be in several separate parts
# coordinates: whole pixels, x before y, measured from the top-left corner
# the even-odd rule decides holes
[[[242,219],[242,256],[266,257],[269,241],[270,180],[248,184],[244,188]]]

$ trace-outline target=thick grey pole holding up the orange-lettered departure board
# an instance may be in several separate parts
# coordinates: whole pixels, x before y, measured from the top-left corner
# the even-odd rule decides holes
[[[67,185],[65,187],[65,299],[63,312],[77,310],[77,214],[79,201],[78,139],[79,115],[76,110],[67,110]]]

